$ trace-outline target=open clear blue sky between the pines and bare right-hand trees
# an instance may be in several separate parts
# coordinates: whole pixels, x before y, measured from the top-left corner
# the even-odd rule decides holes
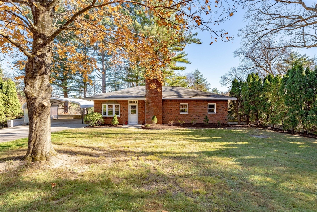
[[[231,67],[239,65],[239,58],[233,57],[233,51],[240,47],[241,39],[237,37],[238,30],[245,26],[247,23],[243,22],[244,10],[238,8],[237,12],[233,15],[232,20],[227,20],[225,23],[220,24],[221,29],[226,29],[228,35],[233,35],[235,38],[231,42],[218,41],[209,45],[211,41],[208,32],[198,31],[197,38],[203,42],[200,45],[190,44],[185,47],[188,54],[187,58],[191,64],[186,64],[187,67],[182,73],[189,73],[199,69],[204,74],[210,83],[210,87],[217,87],[220,91],[228,90],[226,87],[220,85],[219,77],[225,74]],[[307,54],[311,58],[317,54],[317,48],[301,49],[300,54]]]

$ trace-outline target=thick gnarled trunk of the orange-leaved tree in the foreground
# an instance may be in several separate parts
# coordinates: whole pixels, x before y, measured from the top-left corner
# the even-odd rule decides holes
[[[47,38],[52,34],[52,11],[37,4],[32,8],[34,25],[32,56],[25,66],[24,93],[29,112],[29,143],[25,159],[33,162],[49,161],[57,153],[51,142],[50,98],[52,87],[49,84],[52,48]]]

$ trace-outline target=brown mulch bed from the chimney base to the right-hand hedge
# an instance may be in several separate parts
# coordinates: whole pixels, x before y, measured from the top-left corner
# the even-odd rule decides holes
[[[277,128],[272,128],[272,127],[264,127],[264,126],[256,126],[256,125],[230,125],[230,124],[221,124],[218,126],[217,124],[209,124],[209,125],[204,125],[203,123],[197,123],[195,125],[192,124],[184,124],[184,126],[180,126],[179,124],[175,124],[173,127],[168,126],[167,124],[163,125],[150,125],[150,127],[146,127],[146,125],[142,125],[142,129],[147,129],[147,130],[162,130],[162,129],[181,129],[181,128],[226,128],[226,127],[234,127],[234,128],[239,128],[239,127],[253,127],[253,128],[260,128],[260,129],[267,129],[267,130],[272,130],[275,132],[280,132],[280,133],[285,133],[285,134],[290,134],[290,135],[301,135],[307,138],[314,138],[317,139],[317,135],[310,134],[310,133],[301,133],[301,132],[294,132],[294,131],[288,131],[288,130],[282,130],[282,129],[277,129]]]

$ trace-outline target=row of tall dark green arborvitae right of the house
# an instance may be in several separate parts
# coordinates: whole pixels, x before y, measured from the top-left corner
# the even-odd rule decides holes
[[[317,67],[294,65],[283,76],[268,74],[262,80],[251,73],[234,79],[228,116],[239,122],[265,122],[284,129],[317,130]]]

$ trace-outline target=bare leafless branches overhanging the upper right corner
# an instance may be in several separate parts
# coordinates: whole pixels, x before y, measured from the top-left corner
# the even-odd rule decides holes
[[[240,31],[245,44],[267,36],[279,41],[275,48],[317,47],[317,3],[302,0],[242,0],[249,23]]]

